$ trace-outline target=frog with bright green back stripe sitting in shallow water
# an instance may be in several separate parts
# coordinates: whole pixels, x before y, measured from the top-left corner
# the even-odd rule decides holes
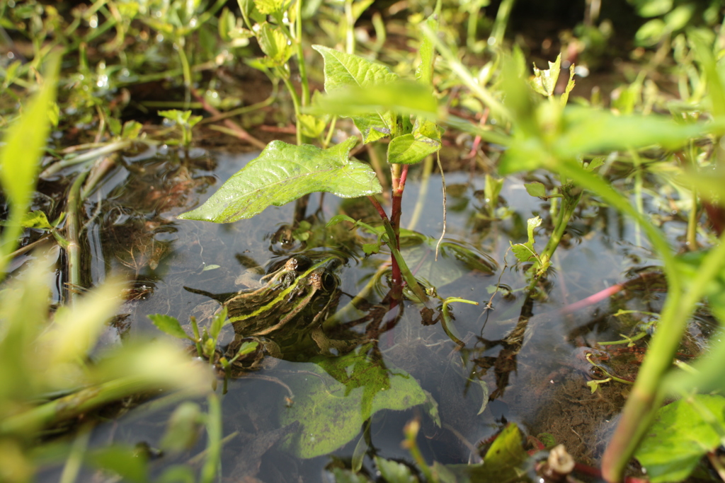
[[[336,270],[345,261],[335,254],[294,255],[262,277],[260,287],[241,290],[223,301],[234,329],[225,357],[231,360],[242,344],[257,342],[260,350],[252,355],[252,364],[241,361],[244,369],[256,369],[264,353],[296,361],[310,354],[334,356],[355,347],[359,343],[355,337],[334,340],[323,330],[339,301]]]

